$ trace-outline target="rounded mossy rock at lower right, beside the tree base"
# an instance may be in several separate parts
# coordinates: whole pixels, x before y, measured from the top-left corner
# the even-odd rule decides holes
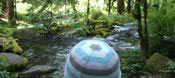
[[[159,73],[161,69],[168,66],[169,62],[171,60],[167,57],[155,53],[146,61],[145,68],[151,73]]]

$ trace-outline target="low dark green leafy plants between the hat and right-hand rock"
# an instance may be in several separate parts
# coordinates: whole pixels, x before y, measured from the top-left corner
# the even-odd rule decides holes
[[[123,52],[121,60],[122,73],[128,76],[148,74],[144,69],[145,58],[140,52],[128,51]]]

